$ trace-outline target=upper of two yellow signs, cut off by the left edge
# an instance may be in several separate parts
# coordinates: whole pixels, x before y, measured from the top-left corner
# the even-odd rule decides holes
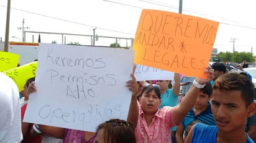
[[[17,67],[19,54],[0,51],[0,72]]]

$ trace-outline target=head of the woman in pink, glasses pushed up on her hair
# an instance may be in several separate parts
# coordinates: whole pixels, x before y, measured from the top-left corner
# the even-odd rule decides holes
[[[144,84],[139,102],[145,114],[155,114],[160,106],[160,89],[157,84]]]

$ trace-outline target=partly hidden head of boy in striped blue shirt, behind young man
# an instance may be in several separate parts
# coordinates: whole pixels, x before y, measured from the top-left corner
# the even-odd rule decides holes
[[[208,82],[203,89],[200,89],[196,103],[194,103],[194,108],[198,108],[198,109],[200,108],[204,110],[204,108],[208,106],[208,102],[211,99],[212,93],[213,93],[213,87]]]

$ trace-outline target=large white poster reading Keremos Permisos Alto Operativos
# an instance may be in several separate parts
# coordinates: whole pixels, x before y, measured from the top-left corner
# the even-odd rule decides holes
[[[39,45],[39,63],[25,121],[95,131],[111,118],[126,119],[134,51]]]

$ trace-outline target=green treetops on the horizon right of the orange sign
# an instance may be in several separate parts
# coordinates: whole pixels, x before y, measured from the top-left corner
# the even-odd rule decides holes
[[[255,56],[252,55],[250,52],[235,52],[234,56],[233,53],[226,51],[225,53],[220,52],[216,55],[216,58],[219,58],[220,61],[233,61],[235,63],[241,63],[242,61],[246,60],[248,63],[255,61]]]

